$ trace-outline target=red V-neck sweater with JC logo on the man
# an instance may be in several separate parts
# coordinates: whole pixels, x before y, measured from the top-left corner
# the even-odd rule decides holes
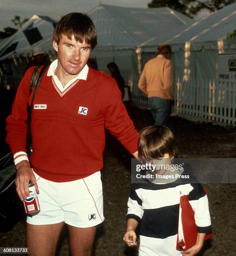
[[[25,151],[25,122],[27,104],[32,97],[32,93],[29,97],[29,83],[33,69],[30,68],[20,82],[12,114],[7,118],[7,142],[13,154]],[[34,106],[42,106],[33,109],[31,122],[30,163],[39,176],[54,182],[68,182],[102,169],[104,127],[130,153],[137,151],[139,133],[127,114],[114,79],[89,68],[87,80],[79,80],[61,96],[53,86],[52,77],[46,74],[47,71],[33,102]]]

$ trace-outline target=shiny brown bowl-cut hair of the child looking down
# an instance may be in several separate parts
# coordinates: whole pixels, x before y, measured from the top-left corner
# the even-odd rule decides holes
[[[138,141],[139,158],[158,159],[165,154],[170,158],[175,156],[175,136],[169,128],[160,125],[152,125],[140,131]]]

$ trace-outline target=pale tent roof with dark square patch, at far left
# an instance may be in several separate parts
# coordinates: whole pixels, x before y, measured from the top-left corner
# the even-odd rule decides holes
[[[55,24],[56,21],[47,16],[33,15],[19,31],[1,42],[0,60],[48,51]]]

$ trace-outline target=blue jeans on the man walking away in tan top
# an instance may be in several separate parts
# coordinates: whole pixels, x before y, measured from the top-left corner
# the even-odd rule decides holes
[[[148,105],[155,119],[155,125],[167,125],[172,108],[172,101],[159,97],[150,97],[148,98]]]

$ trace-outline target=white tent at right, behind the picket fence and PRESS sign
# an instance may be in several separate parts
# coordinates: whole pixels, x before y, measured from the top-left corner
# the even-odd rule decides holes
[[[142,46],[142,65],[155,56],[158,44],[173,49],[175,78],[216,79],[218,54],[235,53],[236,42],[226,35],[236,28],[236,3],[211,13],[195,23],[162,33]]]

